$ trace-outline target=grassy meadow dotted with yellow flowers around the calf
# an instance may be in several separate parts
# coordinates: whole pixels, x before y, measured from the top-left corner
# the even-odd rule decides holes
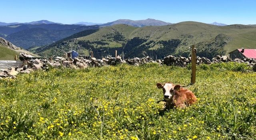
[[[0,139],[254,140],[256,72],[197,67],[198,102],[163,110],[156,83],[190,83],[190,66],[51,68],[0,80]]]

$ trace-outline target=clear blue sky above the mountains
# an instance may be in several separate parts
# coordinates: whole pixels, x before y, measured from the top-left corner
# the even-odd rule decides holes
[[[256,0],[4,0],[0,22],[64,24],[154,18],[165,22],[256,24]]]

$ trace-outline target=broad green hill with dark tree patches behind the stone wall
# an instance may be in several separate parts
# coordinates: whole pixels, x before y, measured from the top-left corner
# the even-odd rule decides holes
[[[190,54],[196,44],[199,56],[212,58],[216,54],[228,54],[236,48],[256,48],[256,27],[249,25],[215,26],[200,22],[180,22],[167,26],[136,28],[125,24],[100,28],[97,32],[54,44],[54,50],[38,49],[41,55],[63,55],[59,48],[76,48],[80,53],[94,52],[96,57],[124,52],[124,57],[149,56],[163,58],[166,55]],[[57,49],[57,50],[56,50]],[[60,53],[57,53],[60,52]]]

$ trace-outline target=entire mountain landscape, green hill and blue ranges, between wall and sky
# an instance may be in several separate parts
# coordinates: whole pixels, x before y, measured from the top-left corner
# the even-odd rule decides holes
[[[80,54],[94,52],[97,58],[122,54],[125,58],[149,55],[189,56],[192,44],[197,55],[208,58],[225,55],[236,48],[256,48],[255,25],[226,25],[217,22],[180,22],[160,20],[116,20],[106,24],[78,22],[58,24],[41,20],[30,24],[0,26],[0,37],[40,56],[62,56],[77,50]]]

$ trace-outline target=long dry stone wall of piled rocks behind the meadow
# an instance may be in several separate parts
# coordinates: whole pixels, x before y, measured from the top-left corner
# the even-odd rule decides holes
[[[252,58],[244,58],[244,59],[234,59],[231,60],[228,56],[216,56],[212,58],[212,60],[199,56],[196,57],[196,64],[212,64],[212,63],[221,63],[221,62],[238,62],[238,63],[246,63],[256,71],[256,60]],[[176,57],[176,56],[166,56],[163,60],[152,60],[149,56],[144,58],[132,58],[132,59],[125,59],[123,60],[120,56],[114,57],[106,57],[102,59],[96,58],[88,58],[85,59],[83,57],[79,58],[62,58],[56,57],[55,60],[51,61],[46,58],[42,59],[33,59],[33,60],[26,60],[24,61],[24,66],[22,68],[9,68],[8,70],[4,70],[0,72],[0,79],[1,78],[16,78],[18,73],[30,73],[33,70],[48,70],[50,66],[52,67],[67,67],[67,68],[87,68],[87,67],[100,67],[100,66],[115,66],[117,64],[130,64],[134,66],[139,66],[141,64],[146,63],[158,63],[160,65],[167,65],[167,66],[186,66],[187,64],[191,63],[191,57]]]

